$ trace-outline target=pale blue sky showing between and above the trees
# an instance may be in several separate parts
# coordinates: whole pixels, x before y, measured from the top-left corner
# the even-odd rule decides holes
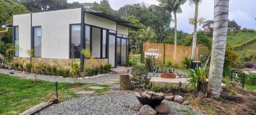
[[[68,0],[68,2],[79,2],[79,3],[92,3],[99,2],[100,0]],[[142,3],[148,5],[159,5],[156,0],[109,0],[110,5],[113,9],[118,10],[120,7],[125,4],[135,4]],[[193,25],[188,24],[188,18],[194,17],[194,7],[189,6],[188,2],[186,2],[182,6],[182,14],[178,14],[178,30],[182,30],[184,32],[192,33]],[[203,2],[199,5],[198,17],[204,17],[207,20],[213,19],[214,17],[214,0],[203,0]],[[256,30],[256,0],[230,0],[229,2],[229,19],[234,19],[237,21],[242,28],[250,28]],[[171,26],[173,27],[173,22],[171,22]],[[202,26],[198,25],[198,30],[202,29]]]

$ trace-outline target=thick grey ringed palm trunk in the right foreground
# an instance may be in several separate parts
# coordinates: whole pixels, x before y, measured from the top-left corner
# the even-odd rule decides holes
[[[226,50],[228,8],[228,0],[214,1],[214,34],[212,37],[209,71],[209,86],[212,97],[219,97],[221,91],[221,78]]]

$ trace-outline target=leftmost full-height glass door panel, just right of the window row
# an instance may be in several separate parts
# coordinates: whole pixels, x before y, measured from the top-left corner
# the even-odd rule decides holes
[[[112,67],[115,67],[115,43],[116,43],[116,36],[110,34],[109,35],[109,64]]]

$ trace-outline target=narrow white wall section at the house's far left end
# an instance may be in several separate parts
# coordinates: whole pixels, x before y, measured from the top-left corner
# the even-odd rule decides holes
[[[13,16],[13,26],[19,28],[19,57],[28,57],[27,51],[31,49],[30,20],[30,14]]]

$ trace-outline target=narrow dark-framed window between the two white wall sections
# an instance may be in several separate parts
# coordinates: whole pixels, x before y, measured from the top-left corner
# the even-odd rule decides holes
[[[34,53],[35,57],[41,57],[41,27],[34,27]]]

